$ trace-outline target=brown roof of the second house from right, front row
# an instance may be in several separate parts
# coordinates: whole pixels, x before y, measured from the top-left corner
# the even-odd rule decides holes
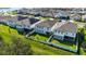
[[[41,23],[37,24],[37,26],[52,27],[56,23],[57,23],[56,21],[46,20],[46,21],[42,21]]]

